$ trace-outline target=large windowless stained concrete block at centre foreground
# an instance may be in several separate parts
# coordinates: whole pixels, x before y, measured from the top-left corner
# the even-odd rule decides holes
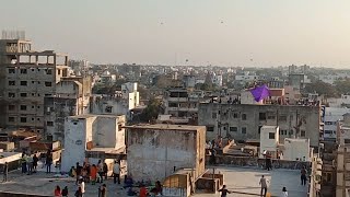
[[[205,128],[200,131],[129,129],[128,174],[136,181],[163,181],[176,169],[205,171]]]

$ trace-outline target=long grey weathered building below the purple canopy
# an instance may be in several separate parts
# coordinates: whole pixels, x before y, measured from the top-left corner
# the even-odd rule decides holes
[[[319,106],[200,103],[198,125],[207,126],[208,140],[228,137],[258,141],[260,129],[266,125],[280,128],[280,141],[308,138],[312,147],[318,147],[319,111]]]

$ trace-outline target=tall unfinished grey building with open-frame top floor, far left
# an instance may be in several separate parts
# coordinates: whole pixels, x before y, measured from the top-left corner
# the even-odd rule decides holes
[[[22,37],[0,39],[0,127],[44,129],[44,97],[68,77],[68,56],[35,51]]]

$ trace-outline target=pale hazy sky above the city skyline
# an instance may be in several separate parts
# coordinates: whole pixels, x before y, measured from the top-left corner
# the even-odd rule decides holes
[[[349,0],[1,0],[0,30],[102,63],[350,68]]]

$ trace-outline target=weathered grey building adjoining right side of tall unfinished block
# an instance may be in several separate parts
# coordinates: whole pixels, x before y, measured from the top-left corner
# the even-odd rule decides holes
[[[91,97],[90,77],[62,78],[56,93],[44,99],[44,136],[65,141],[65,118],[89,113]]]

